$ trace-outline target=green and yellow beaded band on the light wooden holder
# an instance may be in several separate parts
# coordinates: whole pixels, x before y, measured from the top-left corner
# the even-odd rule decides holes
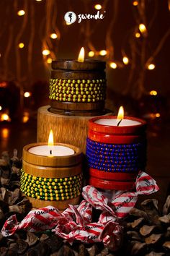
[[[21,191],[39,200],[68,200],[78,197],[82,189],[82,174],[68,178],[48,179],[27,174],[22,169]]]

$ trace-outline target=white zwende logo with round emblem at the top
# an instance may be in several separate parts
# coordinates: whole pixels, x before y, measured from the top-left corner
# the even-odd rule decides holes
[[[105,11],[104,11],[105,12]],[[96,14],[77,14],[75,12],[66,12],[64,15],[64,20],[68,23],[76,22],[78,17],[78,23],[80,23],[82,20],[102,20],[104,19],[104,14],[100,13],[100,11],[97,11]]]

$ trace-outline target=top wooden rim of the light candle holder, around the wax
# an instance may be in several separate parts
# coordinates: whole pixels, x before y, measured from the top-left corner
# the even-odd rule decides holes
[[[48,136],[49,136],[49,127],[48,127]],[[48,141],[48,140],[47,140]],[[44,155],[35,155],[30,153],[28,150],[38,145],[47,145],[48,143],[38,142],[32,143],[24,146],[23,148],[23,160],[27,163],[31,163],[35,166],[49,166],[49,167],[66,167],[66,166],[76,166],[76,164],[81,163],[81,150],[73,145],[67,145],[63,143],[57,143],[55,145],[62,145],[74,150],[73,155],[66,156],[44,156]]]

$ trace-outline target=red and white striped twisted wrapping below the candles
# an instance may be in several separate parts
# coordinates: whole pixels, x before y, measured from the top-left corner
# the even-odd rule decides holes
[[[145,172],[140,171],[135,182],[136,192],[99,191],[95,187],[86,186],[82,195],[84,200],[80,205],[69,205],[60,213],[56,208],[48,206],[38,210],[31,210],[21,221],[11,216],[4,223],[1,230],[3,236],[10,236],[19,229],[45,231],[53,229],[55,234],[72,243],[103,242],[111,249],[120,244],[122,227],[119,219],[125,218],[135,206],[138,195],[149,195],[158,191],[156,181]],[[109,196],[108,196],[109,195]],[[101,210],[99,220],[92,221],[92,207]]]

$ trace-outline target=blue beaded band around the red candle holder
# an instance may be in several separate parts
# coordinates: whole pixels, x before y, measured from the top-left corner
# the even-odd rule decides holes
[[[99,171],[134,173],[146,166],[146,145],[95,142],[87,138],[86,157],[89,167]]]

